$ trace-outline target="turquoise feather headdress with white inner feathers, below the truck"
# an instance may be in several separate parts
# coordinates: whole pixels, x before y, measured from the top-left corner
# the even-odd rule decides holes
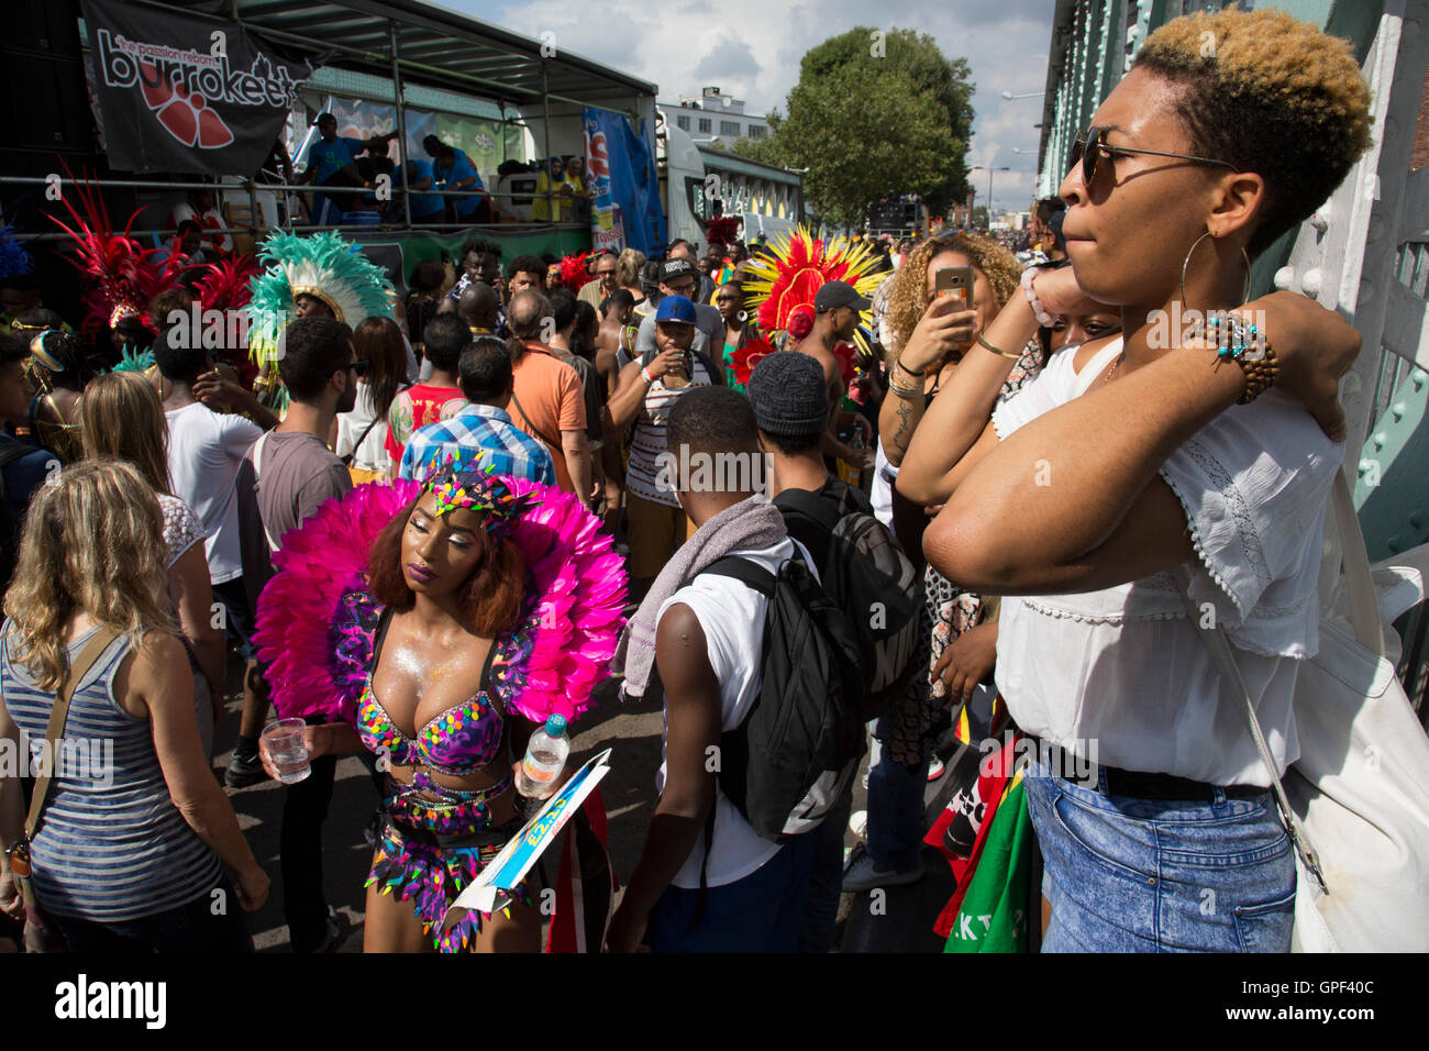
[[[353,327],[364,317],[392,317],[394,290],[387,275],[356,245],[333,232],[299,236],[274,230],[259,259],[249,300],[249,353],[259,365],[277,359],[279,339],[294,317],[294,299],[316,296]]]

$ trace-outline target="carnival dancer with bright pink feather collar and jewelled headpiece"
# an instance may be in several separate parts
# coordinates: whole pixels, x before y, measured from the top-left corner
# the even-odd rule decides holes
[[[274,706],[336,719],[307,728],[310,758],[366,748],[383,774],[366,951],[539,947],[529,884],[500,912],[450,908],[526,821],[533,724],[574,721],[614,653],[626,581],[599,526],[573,493],[447,462],[284,538],[256,635]]]

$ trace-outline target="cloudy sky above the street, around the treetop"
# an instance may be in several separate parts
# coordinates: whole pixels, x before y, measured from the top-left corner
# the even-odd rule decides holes
[[[853,0],[779,4],[777,0],[444,0],[442,6],[540,39],[650,80],[662,99],[699,94],[704,84],[743,99],[746,113],[785,109],[810,47],[855,26],[930,34],[949,57],[965,57],[977,86],[969,164],[997,172],[999,207],[1026,207],[1036,184],[1042,99],[1007,102],[1002,92],[1040,92],[1046,80],[1055,0]],[[1023,153],[1013,153],[1013,149]],[[975,172],[977,202],[987,174]]]

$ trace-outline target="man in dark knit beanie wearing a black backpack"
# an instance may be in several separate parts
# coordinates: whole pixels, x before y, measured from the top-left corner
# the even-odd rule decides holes
[[[912,673],[919,578],[892,533],[873,518],[859,489],[829,473],[820,440],[829,389],[817,359],[780,352],[755,366],[749,399],[759,446],[769,458],[769,496],[789,535],[812,555],[833,603],[849,618],[869,676],[872,716]],[[810,835],[816,857],[805,902],[800,952],[827,952],[843,884],[843,829],[853,806],[852,778]]]

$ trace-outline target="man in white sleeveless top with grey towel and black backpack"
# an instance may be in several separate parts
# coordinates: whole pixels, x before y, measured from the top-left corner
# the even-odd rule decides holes
[[[690,390],[670,412],[669,449],[676,499],[697,529],[613,665],[629,695],[663,688],[666,729],[660,799],[607,947],[792,952],[810,832],[862,754],[862,696],[843,689],[862,673],[857,645],[809,553],[756,495],[749,400]],[[712,463],[747,466],[712,478]]]

